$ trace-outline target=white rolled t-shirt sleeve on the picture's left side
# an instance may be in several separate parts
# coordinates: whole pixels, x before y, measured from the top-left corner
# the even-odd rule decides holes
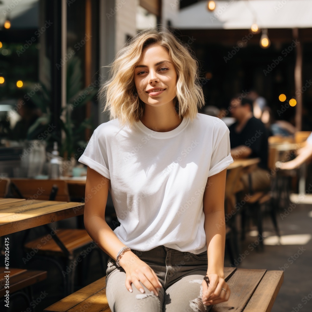
[[[102,136],[98,136],[97,130],[98,128],[93,132],[84,153],[78,161],[110,179],[106,140]]]

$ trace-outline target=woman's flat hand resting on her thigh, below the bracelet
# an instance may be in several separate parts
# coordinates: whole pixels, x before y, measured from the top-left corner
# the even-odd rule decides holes
[[[150,266],[140,260],[132,251],[125,252],[119,263],[126,272],[125,286],[130,292],[132,292],[131,284],[133,284],[143,294],[145,290],[142,283],[149,291],[158,296],[162,285]]]

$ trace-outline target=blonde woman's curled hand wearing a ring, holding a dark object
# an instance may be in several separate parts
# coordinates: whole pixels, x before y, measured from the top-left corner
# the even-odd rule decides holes
[[[202,281],[202,302],[204,305],[216,305],[229,300],[231,290],[225,280],[217,274],[207,274],[209,285],[206,280]]]

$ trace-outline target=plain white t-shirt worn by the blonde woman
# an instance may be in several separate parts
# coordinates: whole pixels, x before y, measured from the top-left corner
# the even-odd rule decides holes
[[[183,118],[168,132],[118,119],[97,127],[79,158],[110,179],[120,226],[115,234],[131,249],[166,246],[207,250],[203,193],[207,178],[233,162],[229,130],[216,117]]]

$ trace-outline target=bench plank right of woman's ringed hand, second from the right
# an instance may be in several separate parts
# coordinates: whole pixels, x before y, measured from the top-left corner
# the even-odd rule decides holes
[[[231,296],[227,302],[214,305],[211,312],[224,312],[234,307],[232,311],[243,311],[258,284],[265,275],[266,270],[236,269],[227,281],[231,289]]]

